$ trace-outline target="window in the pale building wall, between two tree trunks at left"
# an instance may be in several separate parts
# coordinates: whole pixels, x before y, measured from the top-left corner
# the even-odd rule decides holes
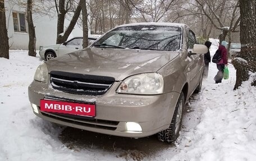
[[[15,32],[26,32],[26,20],[24,13],[12,12],[13,27]]]

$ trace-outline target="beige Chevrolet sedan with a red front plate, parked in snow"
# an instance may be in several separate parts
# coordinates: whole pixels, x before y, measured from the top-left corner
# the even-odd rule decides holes
[[[43,62],[29,100],[36,116],[60,125],[174,142],[185,102],[201,89],[207,52],[184,24],[121,25]]]

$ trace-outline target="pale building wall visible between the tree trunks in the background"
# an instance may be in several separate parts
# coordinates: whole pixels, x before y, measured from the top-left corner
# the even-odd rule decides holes
[[[28,22],[26,22],[26,32],[16,32],[13,25],[12,12],[25,13],[25,8],[21,8],[16,4],[4,2],[6,7],[6,24],[9,38],[10,49],[24,49],[28,50],[29,45],[29,33],[28,33]],[[36,50],[39,50],[40,46],[56,44],[57,38],[57,17],[51,18],[49,16],[42,16],[33,13],[33,22],[35,26],[36,35]],[[68,26],[70,21],[65,20],[65,26]],[[68,37],[68,39],[74,36],[83,36],[83,30],[77,25]]]

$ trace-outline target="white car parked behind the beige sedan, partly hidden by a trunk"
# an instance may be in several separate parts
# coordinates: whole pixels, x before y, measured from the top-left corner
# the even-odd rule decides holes
[[[88,45],[92,44],[97,39],[98,36],[88,36]],[[83,37],[75,37],[62,44],[40,46],[39,55],[42,59],[48,61],[49,59],[63,56],[64,54],[80,49],[83,49]]]

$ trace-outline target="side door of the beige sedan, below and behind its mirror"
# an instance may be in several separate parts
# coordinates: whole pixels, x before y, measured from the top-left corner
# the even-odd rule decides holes
[[[188,29],[187,31],[188,31],[188,52],[190,51],[193,52],[194,44],[196,44],[195,34],[190,29]],[[203,70],[203,68],[202,68],[202,62],[200,62],[202,61],[202,59],[200,58],[200,55],[194,54],[194,55],[191,55],[189,58],[190,58],[189,73],[188,73],[189,81],[190,81],[189,91],[190,93],[192,93],[201,79],[200,71]]]

